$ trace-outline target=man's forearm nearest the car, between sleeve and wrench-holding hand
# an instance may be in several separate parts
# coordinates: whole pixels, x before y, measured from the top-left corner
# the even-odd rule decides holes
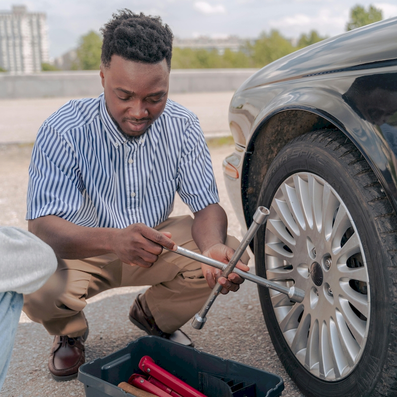
[[[215,244],[224,244],[227,235],[227,216],[219,204],[210,204],[195,213],[192,236],[201,252]]]

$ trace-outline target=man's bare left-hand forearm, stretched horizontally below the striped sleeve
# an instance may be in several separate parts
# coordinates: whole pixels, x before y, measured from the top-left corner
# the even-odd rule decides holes
[[[62,259],[83,259],[108,254],[119,229],[78,226],[55,215],[29,220],[28,229]]]

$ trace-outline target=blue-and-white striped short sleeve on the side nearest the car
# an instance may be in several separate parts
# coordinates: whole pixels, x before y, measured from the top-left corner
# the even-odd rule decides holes
[[[177,191],[192,212],[219,202],[211,158],[197,118],[186,131],[178,176]]]

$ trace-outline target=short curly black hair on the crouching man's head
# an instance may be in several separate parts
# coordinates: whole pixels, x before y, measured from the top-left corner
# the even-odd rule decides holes
[[[103,66],[108,67],[112,55],[118,55],[129,61],[147,64],[156,64],[165,59],[168,68],[171,68],[174,35],[159,16],[120,9],[101,28],[101,33]]]

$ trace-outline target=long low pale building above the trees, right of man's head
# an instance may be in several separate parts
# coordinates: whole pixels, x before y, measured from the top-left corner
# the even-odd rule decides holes
[[[252,42],[252,39],[242,39],[238,36],[228,36],[225,38],[211,38],[207,36],[200,36],[196,39],[180,39],[174,38],[172,46],[174,48],[192,48],[204,50],[216,50],[222,55],[228,48],[231,51],[239,51],[247,42]]]

